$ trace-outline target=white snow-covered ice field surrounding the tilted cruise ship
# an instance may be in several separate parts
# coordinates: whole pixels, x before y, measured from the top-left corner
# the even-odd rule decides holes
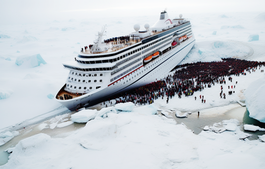
[[[265,61],[265,19],[257,17],[259,14],[183,14],[192,24],[196,43],[180,64],[218,61],[223,57]],[[176,16],[169,13],[169,17]],[[0,25],[0,137],[5,133],[10,136],[6,138],[12,138],[17,134],[12,131],[23,124],[68,112],[52,99],[68,77],[69,70],[61,63],[74,60],[80,47],[92,44],[102,23],[107,24],[107,39],[128,35],[136,23],[142,31],[144,24],[152,26],[157,19],[156,15]],[[256,34],[258,40],[252,36]],[[246,76],[232,76],[232,82],[226,79],[226,85],[222,84],[226,99],[220,99],[221,85],[216,84],[188,98],[175,96],[168,104],[166,99],[155,100],[154,106],[182,113],[200,111],[200,116],[222,114],[234,108],[237,101],[244,101],[243,92],[263,74],[257,70]],[[235,85],[236,81],[235,93],[230,96],[227,86]],[[198,99],[200,95],[206,103]],[[240,139],[242,132],[240,126],[235,127],[238,124],[234,120],[227,124],[234,131],[202,131],[195,135],[184,125],[153,115],[149,109],[108,113],[65,138],[51,138],[43,133],[26,138],[14,145],[9,162],[0,168],[263,168],[265,165],[264,142]],[[55,117],[50,125],[42,124],[39,129],[54,129],[59,120]],[[58,127],[71,123],[61,121]]]

